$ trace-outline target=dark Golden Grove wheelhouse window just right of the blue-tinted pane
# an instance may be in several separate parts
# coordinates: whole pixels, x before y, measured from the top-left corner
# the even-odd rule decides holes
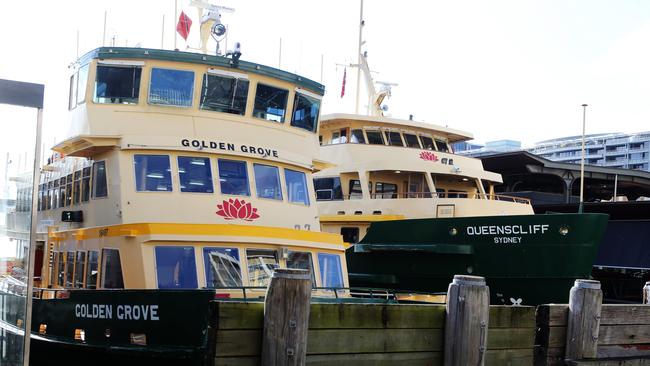
[[[201,109],[244,115],[248,97],[248,80],[220,76],[203,75],[201,90]]]

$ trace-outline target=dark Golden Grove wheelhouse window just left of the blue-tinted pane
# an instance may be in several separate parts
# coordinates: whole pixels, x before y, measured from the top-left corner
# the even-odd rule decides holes
[[[95,103],[137,104],[142,68],[97,66]]]

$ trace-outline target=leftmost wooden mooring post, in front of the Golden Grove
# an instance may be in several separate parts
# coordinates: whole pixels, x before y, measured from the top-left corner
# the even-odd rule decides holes
[[[304,365],[311,276],[304,269],[276,269],[266,291],[262,366]]]

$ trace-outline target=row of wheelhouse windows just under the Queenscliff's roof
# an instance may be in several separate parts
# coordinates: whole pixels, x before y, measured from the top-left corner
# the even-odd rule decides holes
[[[319,140],[322,144],[322,136],[319,136]],[[406,133],[396,130],[349,130],[347,128],[332,132],[332,144],[344,144],[348,142],[351,144],[367,143],[370,145],[406,146],[416,149],[450,152],[447,142],[444,140],[415,133]]]

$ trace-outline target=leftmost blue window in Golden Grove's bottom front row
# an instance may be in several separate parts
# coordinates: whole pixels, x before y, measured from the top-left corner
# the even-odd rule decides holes
[[[193,247],[156,247],[158,288],[198,288]]]

